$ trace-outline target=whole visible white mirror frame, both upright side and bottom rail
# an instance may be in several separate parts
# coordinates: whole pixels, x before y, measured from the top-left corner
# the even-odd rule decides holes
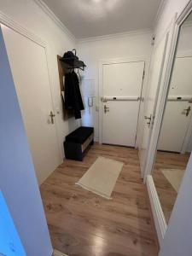
[[[147,165],[146,165],[145,174],[144,174],[144,181],[147,183],[147,187],[148,187],[149,200],[150,200],[150,204],[151,204],[151,208],[154,216],[154,224],[157,230],[160,246],[166,234],[167,224],[165,221],[164,213],[160,206],[159,197],[157,196],[157,192],[154,187],[153,177],[151,174],[153,172],[156,148],[157,148],[158,138],[160,135],[160,127],[162,125],[162,120],[163,120],[163,116],[166,108],[166,98],[168,96],[170,80],[172,77],[172,68],[174,64],[174,57],[176,55],[179,29],[180,29],[180,26],[183,24],[183,21],[187,18],[187,16],[191,11],[192,11],[192,0],[190,0],[190,2],[185,6],[181,15],[179,15],[178,18],[177,18],[177,15],[175,15],[174,24],[172,25],[172,32],[171,32],[172,42],[167,49],[168,54],[165,61],[164,72],[162,73],[162,83],[160,85],[161,93],[160,93],[159,101],[157,104],[156,118],[154,119],[154,129],[152,131],[152,137],[151,137],[150,145],[148,148],[148,160],[147,160]]]

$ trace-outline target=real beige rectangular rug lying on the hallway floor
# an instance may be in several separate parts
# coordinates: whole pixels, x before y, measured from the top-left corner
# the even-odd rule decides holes
[[[98,157],[76,184],[96,195],[112,199],[111,194],[123,165],[116,160]]]

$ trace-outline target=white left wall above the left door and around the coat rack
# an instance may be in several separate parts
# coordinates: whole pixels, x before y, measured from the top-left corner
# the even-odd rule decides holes
[[[41,38],[48,44],[50,82],[55,113],[56,108],[60,110],[60,114],[56,115],[56,124],[60,138],[61,154],[63,154],[63,139],[69,131],[73,131],[79,125],[79,121],[72,118],[64,122],[62,119],[61,93],[56,55],[63,55],[65,51],[73,49],[76,44],[75,39],[57,26],[53,20],[39,8],[37,3],[32,0],[0,0],[0,10],[3,14],[19,22],[20,26],[24,26],[29,32],[36,34],[38,38]]]

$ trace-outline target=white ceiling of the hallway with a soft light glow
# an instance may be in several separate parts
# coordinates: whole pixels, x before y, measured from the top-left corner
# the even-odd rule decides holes
[[[76,38],[151,28],[161,0],[44,0]]]

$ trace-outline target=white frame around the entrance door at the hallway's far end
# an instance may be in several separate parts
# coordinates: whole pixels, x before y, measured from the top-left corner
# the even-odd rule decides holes
[[[99,98],[98,98],[98,101],[99,101],[99,143],[100,144],[102,144],[103,65],[128,63],[128,62],[139,62],[139,61],[144,61],[144,78],[143,78],[143,85],[142,85],[142,98],[143,98],[143,96],[145,95],[146,88],[147,88],[150,56],[132,56],[132,57],[118,58],[118,59],[102,59],[99,61]],[[137,120],[137,133],[138,133],[138,124],[139,124],[139,122],[141,122],[140,112],[141,112],[141,102],[140,102],[138,120]],[[137,147],[138,147],[138,136],[136,138],[136,148]]]

